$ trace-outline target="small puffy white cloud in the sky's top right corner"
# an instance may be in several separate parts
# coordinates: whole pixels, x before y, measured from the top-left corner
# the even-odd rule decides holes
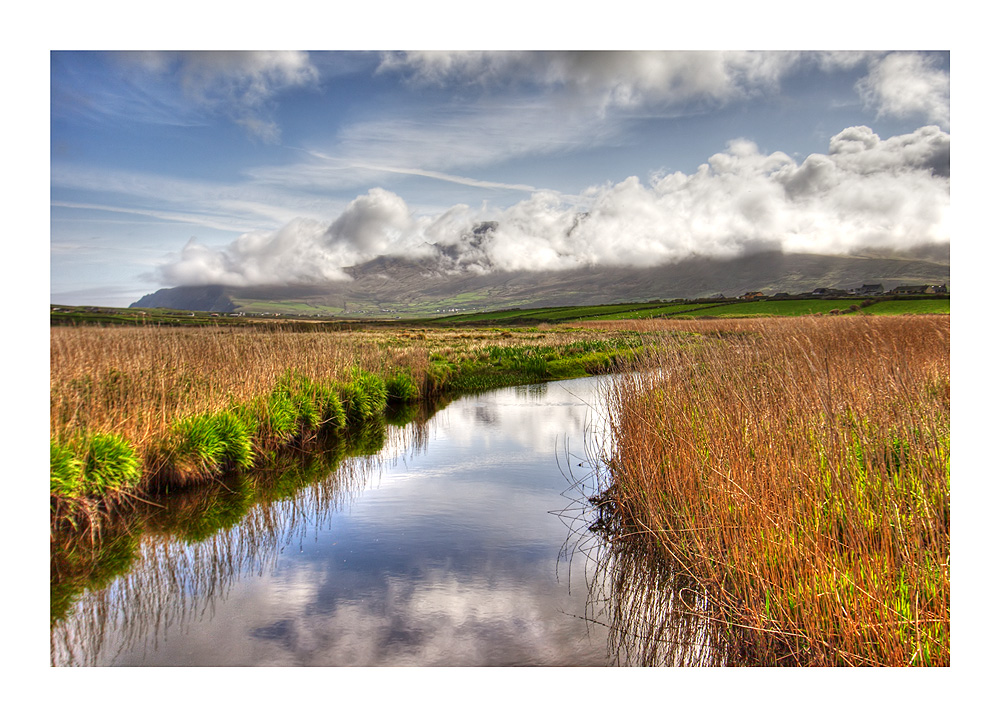
[[[857,89],[879,116],[920,117],[949,126],[951,78],[931,56],[897,52],[880,58]]]

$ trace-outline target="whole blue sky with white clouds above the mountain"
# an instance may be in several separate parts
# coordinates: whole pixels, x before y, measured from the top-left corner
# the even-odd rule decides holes
[[[947,50],[54,50],[49,79],[53,303],[950,247]]]

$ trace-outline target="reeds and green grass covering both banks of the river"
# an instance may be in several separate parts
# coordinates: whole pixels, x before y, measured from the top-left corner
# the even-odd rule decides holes
[[[949,345],[947,315],[863,313],[53,326],[53,560],[78,550],[110,575],[100,544],[113,553],[150,503],[280,474],[331,441],[329,460],[363,455],[351,446],[377,449],[381,423],[454,396],[617,372],[593,502],[613,551],[671,576],[650,578],[676,590],[655,598],[664,619],[721,664],[947,665]],[[245,487],[240,506],[258,494],[283,490]],[[60,568],[74,577],[53,620],[92,584],[82,563]]]

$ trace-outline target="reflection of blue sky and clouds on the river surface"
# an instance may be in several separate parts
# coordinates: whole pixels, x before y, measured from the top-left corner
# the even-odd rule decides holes
[[[426,443],[388,441],[367,487],[259,574],[103,664],[607,664],[606,632],[581,619],[584,561],[557,565],[568,528],[551,513],[600,422],[598,383],[450,404]]]

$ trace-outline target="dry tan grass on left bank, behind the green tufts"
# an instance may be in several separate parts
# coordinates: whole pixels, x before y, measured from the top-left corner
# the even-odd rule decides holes
[[[140,455],[177,421],[247,404],[289,370],[346,381],[352,368],[425,380],[432,356],[472,359],[488,347],[562,346],[605,332],[367,327],[53,327],[50,436],[122,436]],[[423,387],[421,387],[423,388]]]

